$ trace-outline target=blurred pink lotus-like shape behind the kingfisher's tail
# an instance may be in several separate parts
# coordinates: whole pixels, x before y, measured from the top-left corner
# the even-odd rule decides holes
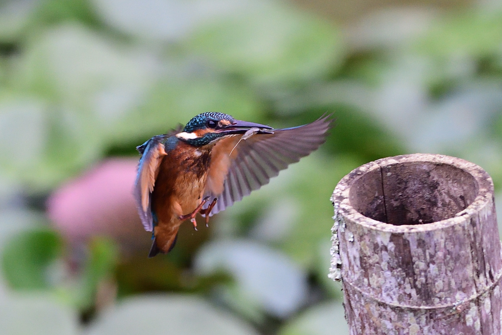
[[[148,252],[151,233],[133,197],[137,166],[137,159],[108,159],[55,191],[47,202],[54,226],[70,243],[106,236],[122,250]]]

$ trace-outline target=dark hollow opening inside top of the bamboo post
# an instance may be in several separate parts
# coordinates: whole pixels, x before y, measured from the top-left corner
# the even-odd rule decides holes
[[[466,171],[449,164],[409,162],[363,174],[349,192],[350,204],[387,224],[422,225],[455,216],[478,194]]]

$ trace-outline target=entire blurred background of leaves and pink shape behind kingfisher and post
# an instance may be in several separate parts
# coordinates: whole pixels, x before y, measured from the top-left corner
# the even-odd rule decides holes
[[[135,147],[205,111],[336,127],[147,259]],[[0,332],[347,334],[329,197],[415,152],[502,199],[498,2],[0,0]]]

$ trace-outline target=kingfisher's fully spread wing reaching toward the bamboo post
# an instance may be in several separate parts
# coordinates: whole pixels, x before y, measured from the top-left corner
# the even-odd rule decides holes
[[[319,148],[332,122],[330,115],[323,116],[304,126],[274,130],[274,134],[257,134],[241,140],[236,147],[241,136],[219,141],[211,153],[205,191],[205,196],[218,198],[210,215],[259,189],[280,170]]]

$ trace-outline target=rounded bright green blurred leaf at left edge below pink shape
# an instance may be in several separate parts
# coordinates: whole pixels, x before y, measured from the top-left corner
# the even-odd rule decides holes
[[[61,252],[59,236],[49,230],[28,231],[7,243],[2,268],[16,289],[49,288],[47,269]]]

